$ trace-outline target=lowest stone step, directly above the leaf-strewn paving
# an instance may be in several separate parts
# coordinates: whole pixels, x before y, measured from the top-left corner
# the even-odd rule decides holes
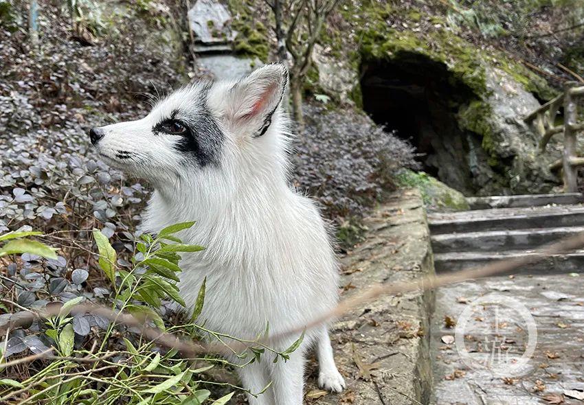
[[[488,252],[453,252],[434,255],[436,272],[451,272],[484,266],[493,261],[515,259],[535,255],[533,251]],[[526,264],[504,274],[557,274],[584,273],[584,251],[565,255],[550,255],[537,263]]]

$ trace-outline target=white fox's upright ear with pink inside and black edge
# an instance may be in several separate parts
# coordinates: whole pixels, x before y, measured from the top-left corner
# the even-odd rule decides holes
[[[265,134],[282,102],[288,69],[281,64],[260,67],[227,91],[225,113],[230,124],[253,137]]]

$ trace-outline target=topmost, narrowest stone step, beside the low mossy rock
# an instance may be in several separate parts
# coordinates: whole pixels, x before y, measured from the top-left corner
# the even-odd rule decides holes
[[[467,197],[471,209],[541,207],[584,202],[582,193],[527,194],[524,196]]]

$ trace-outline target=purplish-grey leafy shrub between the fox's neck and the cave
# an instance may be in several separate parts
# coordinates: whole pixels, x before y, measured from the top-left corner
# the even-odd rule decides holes
[[[360,218],[394,189],[401,167],[417,167],[414,148],[366,115],[306,106],[293,156],[293,184],[315,196],[338,224]]]

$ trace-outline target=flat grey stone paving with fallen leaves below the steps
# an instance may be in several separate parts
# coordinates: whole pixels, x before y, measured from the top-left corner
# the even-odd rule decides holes
[[[583,287],[584,275],[564,274],[493,277],[440,288],[431,325],[433,403],[584,404],[574,398],[584,398]],[[534,336],[528,336],[528,322],[517,310],[504,305],[473,305],[475,299],[492,293],[508,303],[524,305],[537,326],[537,345],[521,375],[506,375],[506,371],[513,370]],[[461,317],[467,308],[469,315]],[[468,323],[461,336],[474,361],[470,366],[462,362],[453,342],[453,324],[464,319]],[[503,355],[497,358],[495,351],[491,358],[497,341]],[[489,358],[491,370],[500,369],[501,374],[473,369]]]

